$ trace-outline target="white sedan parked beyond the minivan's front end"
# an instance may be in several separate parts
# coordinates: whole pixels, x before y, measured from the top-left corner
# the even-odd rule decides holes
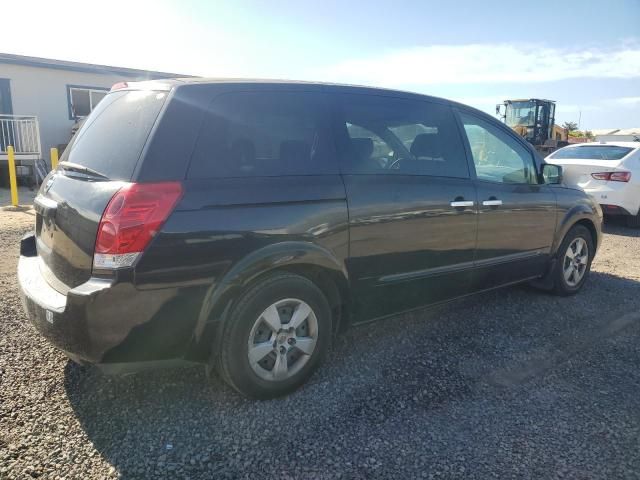
[[[564,183],[594,197],[605,215],[625,215],[627,225],[640,227],[639,142],[569,145],[545,161],[561,165]]]

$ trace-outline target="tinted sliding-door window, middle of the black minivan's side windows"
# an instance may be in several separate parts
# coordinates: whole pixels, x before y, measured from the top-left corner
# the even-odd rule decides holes
[[[469,177],[449,107],[376,95],[337,98],[344,173]]]

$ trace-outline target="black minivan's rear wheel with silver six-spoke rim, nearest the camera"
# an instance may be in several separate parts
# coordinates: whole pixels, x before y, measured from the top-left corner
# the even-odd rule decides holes
[[[273,274],[234,302],[212,361],[241,394],[278,397],[309,379],[326,356],[331,332],[322,291],[305,277]]]

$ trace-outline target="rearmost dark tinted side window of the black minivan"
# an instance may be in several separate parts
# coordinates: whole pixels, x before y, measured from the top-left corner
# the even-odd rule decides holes
[[[337,173],[322,95],[235,92],[205,114],[189,178]]]

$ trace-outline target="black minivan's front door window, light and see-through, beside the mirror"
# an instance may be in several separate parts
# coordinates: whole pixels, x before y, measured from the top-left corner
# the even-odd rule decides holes
[[[533,156],[507,133],[473,115],[460,113],[479,180],[537,184]]]

